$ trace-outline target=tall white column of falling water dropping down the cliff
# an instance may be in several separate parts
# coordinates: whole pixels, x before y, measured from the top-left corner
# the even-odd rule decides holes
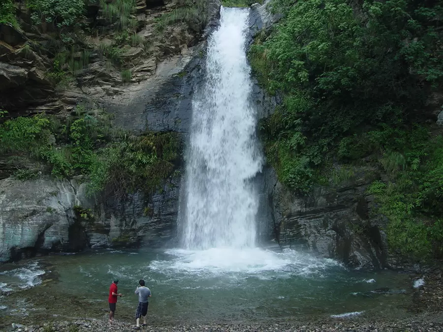
[[[188,249],[255,246],[262,158],[246,58],[249,9],[221,7],[208,41],[206,76],[192,99],[184,244]]]

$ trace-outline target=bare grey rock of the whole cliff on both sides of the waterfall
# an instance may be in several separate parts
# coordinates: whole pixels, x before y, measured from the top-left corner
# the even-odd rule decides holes
[[[280,18],[270,14],[269,2],[252,7],[250,42]],[[75,84],[68,90],[56,89],[44,75],[50,66],[48,56],[38,51],[29,33],[0,25],[1,106],[15,115],[41,111],[60,115],[79,102],[87,102],[114,113],[115,122],[124,128],[173,130],[186,137],[192,87],[204,71],[205,37],[217,24],[220,8],[218,1],[208,3],[210,23],[202,33],[174,26],[164,41],[155,41],[152,50],[127,49],[124,59],[133,65],[128,83],[115,70],[107,70],[93,52],[91,63],[76,74]],[[148,8],[144,1],[139,2],[137,20],[142,28],[138,34],[152,37],[154,18],[173,6]],[[98,17],[98,11],[92,12]],[[258,84],[253,100],[260,119],[272,114],[280,103],[278,96],[268,96]],[[309,196],[298,196],[267,166],[255,179],[261,193],[260,238],[264,243],[276,241],[282,247],[335,258],[354,267],[395,265],[387,252],[385,220],[373,213],[373,199],[366,193],[374,180],[367,176],[372,171],[361,167],[350,182],[318,186]],[[158,246],[175,241],[179,178],[169,179],[152,195],[137,192],[121,202],[87,197],[81,178],[19,181],[8,177],[8,172],[0,171],[0,175],[0,261],[50,250]]]

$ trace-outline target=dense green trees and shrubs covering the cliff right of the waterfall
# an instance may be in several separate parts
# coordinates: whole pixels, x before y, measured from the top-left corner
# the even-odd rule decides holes
[[[325,173],[340,177],[332,164],[369,163],[386,175],[369,191],[389,219],[391,249],[442,257],[443,139],[428,124],[440,110],[427,102],[442,89],[443,6],[274,0],[273,8],[285,17],[256,36],[249,59],[260,85],[283,100],[259,123],[279,180],[307,194]]]

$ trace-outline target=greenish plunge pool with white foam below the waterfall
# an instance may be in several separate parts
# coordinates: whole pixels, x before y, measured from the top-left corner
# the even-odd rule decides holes
[[[333,260],[293,250],[96,251],[52,255],[1,267],[1,314],[101,318],[119,278],[117,317],[131,320],[140,278],[158,322],[241,321],[306,315],[404,315],[409,276],[350,271]],[[48,278],[50,280],[48,280]],[[45,294],[42,298],[42,294]],[[21,304],[17,305],[20,299]],[[78,310],[77,310],[78,309]]]

